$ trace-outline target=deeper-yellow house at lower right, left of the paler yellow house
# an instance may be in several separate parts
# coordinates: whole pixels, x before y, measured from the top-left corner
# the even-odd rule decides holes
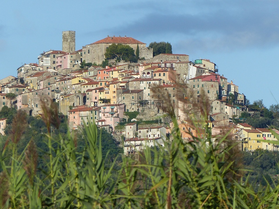
[[[257,129],[242,129],[243,150],[262,148],[262,132]]]

